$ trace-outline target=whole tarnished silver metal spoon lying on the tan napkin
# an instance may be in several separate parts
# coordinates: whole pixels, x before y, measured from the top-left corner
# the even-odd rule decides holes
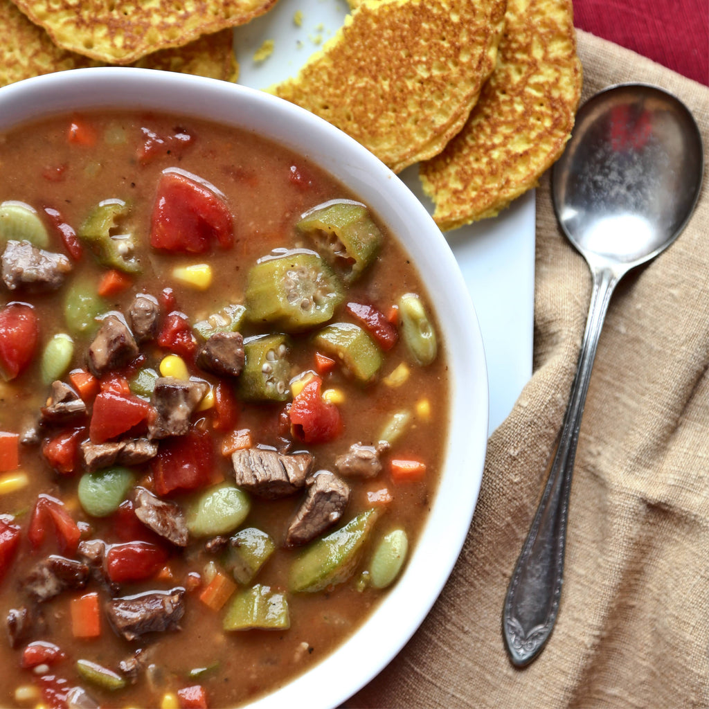
[[[517,666],[537,657],[557,618],[571,471],[610,296],[630,269],[679,236],[702,173],[702,141],[691,113],[645,84],[612,86],[589,99],[554,165],[554,211],[591,268],[593,293],[559,448],[505,600],[503,632]]]

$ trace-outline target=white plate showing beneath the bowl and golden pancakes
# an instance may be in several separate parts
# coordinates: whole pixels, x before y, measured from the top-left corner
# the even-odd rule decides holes
[[[296,11],[301,16],[298,26]],[[239,83],[265,89],[293,76],[333,36],[347,14],[345,0],[280,0],[264,16],[235,30]],[[267,40],[272,54],[254,55]],[[432,211],[415,165],[401,179]],[[475,305],[486,352],[492,432],[510,413],[532,372],[535,201],[521,197],[501,216],[445,234]]]

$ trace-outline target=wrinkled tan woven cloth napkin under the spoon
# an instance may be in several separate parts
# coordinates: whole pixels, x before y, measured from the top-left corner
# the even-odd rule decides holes
[[[709,147],[709,89],[579,32],[584,99],[657,84]],[[706,156],[705,156],[706,160]],[[547,176],[548,177],[548,176]],[[466,545],[420,630],[347,707],[709,706],[709,184],[679,240],[615,291],[581,425],[554,633],[515,669],[501,612],[546,479],[591,278],[537,191],[534,374],[489,440]]]

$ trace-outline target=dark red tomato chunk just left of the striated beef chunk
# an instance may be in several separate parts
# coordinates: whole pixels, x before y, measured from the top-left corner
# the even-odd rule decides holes
[[[211,436],[189,430],[184,436],[167,438],[152,460],[152,484],[158,495],[173,490],[195,490],[213,481]]]

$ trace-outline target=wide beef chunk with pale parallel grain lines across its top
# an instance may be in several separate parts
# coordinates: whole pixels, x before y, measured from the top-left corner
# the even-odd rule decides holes
[[[291,495],[306,484],[313,456],[248,448],[234,452],[231,462],[238,486],[259,497],[274,499]]]

